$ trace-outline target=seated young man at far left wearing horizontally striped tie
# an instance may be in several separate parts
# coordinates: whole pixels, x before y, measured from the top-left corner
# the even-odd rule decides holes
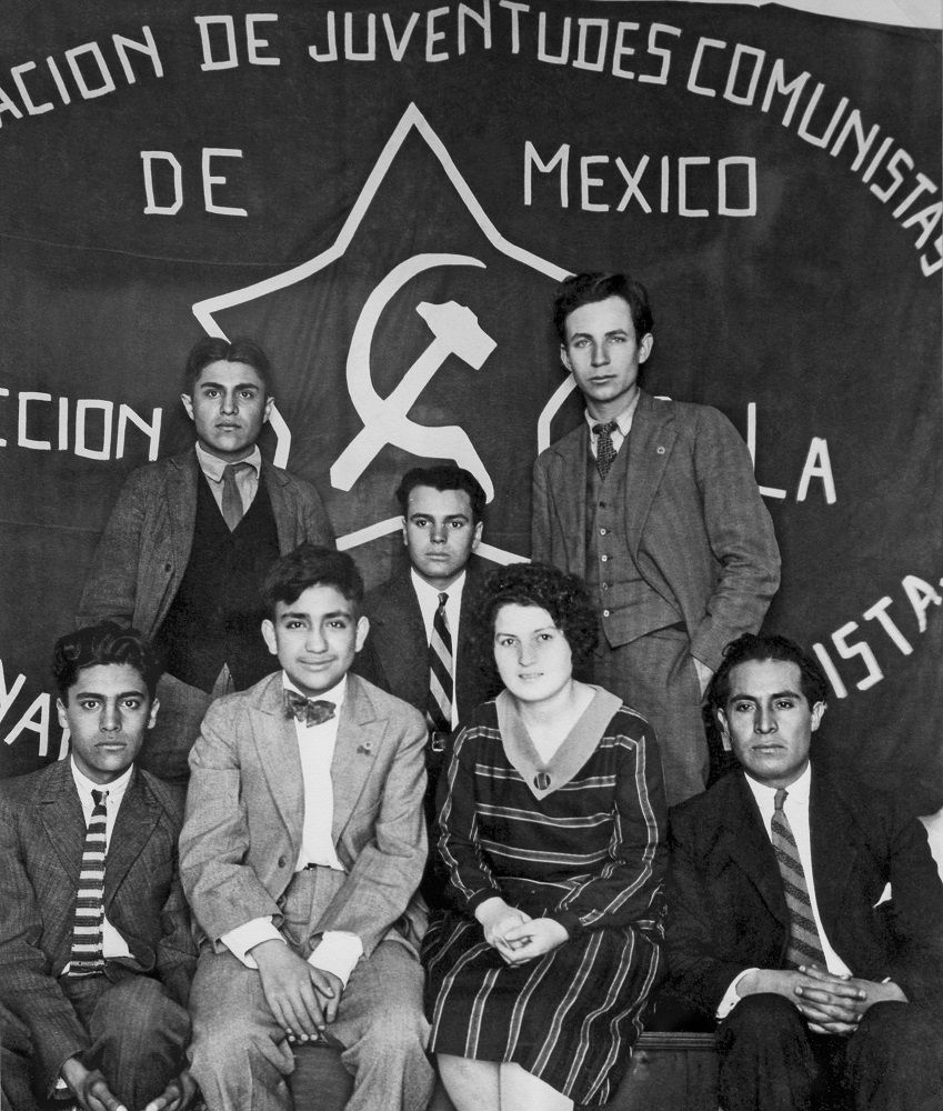
[[[70,757],[0,783],[3,1107],[182,1111],[195,1090],[182,799],[134,767],[160,664],[104,622],[58,641],[53,674]]]

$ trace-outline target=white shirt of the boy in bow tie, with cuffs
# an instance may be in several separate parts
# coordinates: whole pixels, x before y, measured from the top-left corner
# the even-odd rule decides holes
[[[301,694],[288,675],[282,672],[282,683],[285,690]],[[333,868],[345,871],[338,859],[332,835],[334,820],[334,788],[331,781],[331,762],[334,758],[334,747],[338,740],[338,721],[341,705],[347,694],[347,675],[331,690],[324,691],[319,698],[333,702],[337,707],[334,717],[319,725],[305,725],[303,721],[294,722],[298,738],[298,754],[301,760],[301,778],[304,789],[304,818],[301,827],[301,852],[295,862],[295,872],[303,871],[308,864]],[[250,949],[263,941],[281,941],[271,918],[253,918],[242,925],[235,927],[220,937],[220,941],[250,969],[258,968]],[[332,972],[347,987],[351,972],[363,954],[363,942],[355,933],[344,930],[328,930],[321,934],[321,941],[308,958],[308,963],[314,968]]]

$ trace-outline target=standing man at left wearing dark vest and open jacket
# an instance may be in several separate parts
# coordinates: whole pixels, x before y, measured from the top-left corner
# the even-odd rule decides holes
[[[184,390],[195,447],[128,478],[78,618],[131,623],[161,650],[161,715],[141,764],[178,782],[185,782],[187,755],[212,699],[272,670],[259,637],[265,571],[302,541],[333,542],[314,487],[259,451],[274,400],[261,348],[248,339],[200,340]]]

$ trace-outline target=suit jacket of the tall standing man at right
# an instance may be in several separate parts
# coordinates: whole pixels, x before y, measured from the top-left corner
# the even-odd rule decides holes
[[[533,473],[531,557],[579,575],[586,573],[589,453],[581,421],[541,452]],[[642,391],[625,491],[624,554],[652,590],[676,602],[691,654],[716,670],[729,641],[760,628],[780,583],[773,522],[746,444],[719,410]],[[633,639],[630,628],[619,633],[618,643]]]

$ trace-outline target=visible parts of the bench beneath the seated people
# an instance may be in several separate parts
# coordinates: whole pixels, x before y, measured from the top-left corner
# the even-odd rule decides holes
[[[291,1090],[297,1111],[343,1111],[352,1081],[340,1052],[327,1045],[295,1050]],[[718,1063],[711,1033],[646,1030],[605,1111],[718,1111]],[[382,1111],[378,1108],[377,1111]],[[454,1111],[442,1084],[429,1111]]]

